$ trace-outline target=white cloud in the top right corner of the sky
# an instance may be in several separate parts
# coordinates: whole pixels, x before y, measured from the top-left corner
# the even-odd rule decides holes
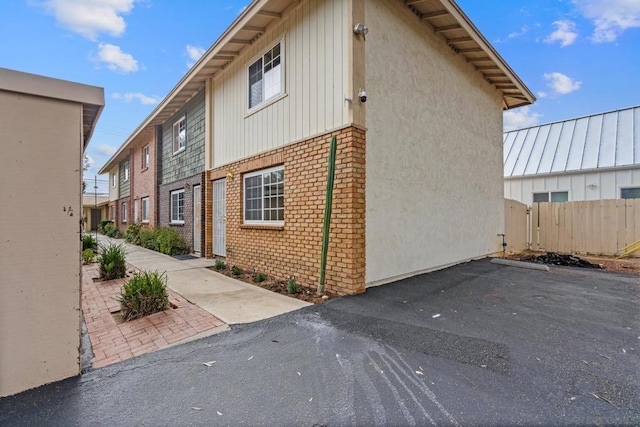
[[[640,2],[637,0],[573,0],[575,6],[593,21],[591,40],[615,41],[629,28],[640,27]]]

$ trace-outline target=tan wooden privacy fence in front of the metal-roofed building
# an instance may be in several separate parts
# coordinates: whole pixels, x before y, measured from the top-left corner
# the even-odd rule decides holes
[[[640,239],[640,199],[534,203],[525,213],[523,206],[505,202],[509,251],[615,255]]]

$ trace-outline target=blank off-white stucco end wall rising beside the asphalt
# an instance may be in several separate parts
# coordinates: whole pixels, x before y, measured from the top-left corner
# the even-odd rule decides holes
[[[365,2],[367,284],[500,250],[495,89],[401,2]]]

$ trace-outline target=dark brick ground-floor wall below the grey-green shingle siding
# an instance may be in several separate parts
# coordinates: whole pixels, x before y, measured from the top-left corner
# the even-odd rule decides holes
[[[184,237],[185,241],[193,251],[193,187],[201,185],[203,174],[194,175],[170,184],[158,187],[158,223],[163,227],[171,227]],[[200,191],[204,191],[204,186],[200,186]],[[171,224],[171,192],[184,189],[184,224]],[[204,201],[204,197],[202,197]],[[203,205],[204,206],[204,205]],[[204,207],[202,208],[204,209]],[[201,212],[202,213],[202,212]],[[203,216],[204,218],[204,216]],[[200,230],[202,235],[203,229]],[[200,238],[201,245],[204,239]],[[202,252],[202,248],[199,248]]]

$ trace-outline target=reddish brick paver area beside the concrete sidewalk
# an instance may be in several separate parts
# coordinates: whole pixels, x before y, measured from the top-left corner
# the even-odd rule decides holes
[[[141,319],[117,323],[120,310],[116,296],[124,279],[94,282],[98,264],[83,266],[82,313],[93,348],[92,366],[97,368],[175,344],[223,326],[224,322],[182,298],[171,289],[169,302],[176,308]]]

